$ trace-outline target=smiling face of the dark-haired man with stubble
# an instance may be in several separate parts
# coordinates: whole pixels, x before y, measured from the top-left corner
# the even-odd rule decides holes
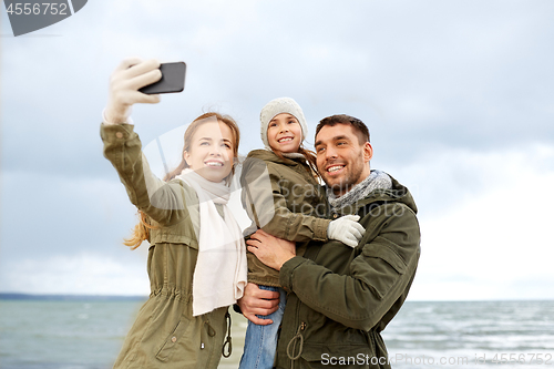
[[[370,173],[373,150],[360,144],[350,124],[324,126],[316,136],[317,168],[336,196],[349,192]]]

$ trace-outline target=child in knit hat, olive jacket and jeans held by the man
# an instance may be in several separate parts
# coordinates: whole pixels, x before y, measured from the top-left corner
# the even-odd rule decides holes
[[[243,204],[255,228],[283,239],[302,243],[338,239],[355,247],[365,232],[356,221],[345,216],[336,221],[326,215],[325,194],[316,180],[316,155],[302,145],[307,134],[306,119],[300,106],[289,98],[270,101],[260,113],[261,141],[266,150],[252,151],[243,165]],[[277,329],[285,311],[286,295],[279,288],[279,273],[265,266],[252,253],[248,258],[248,283],[261,289],[279,291],[279,308],[264,319],[267,326],[248,321],[242,369],[271,368],[277,347]]]

